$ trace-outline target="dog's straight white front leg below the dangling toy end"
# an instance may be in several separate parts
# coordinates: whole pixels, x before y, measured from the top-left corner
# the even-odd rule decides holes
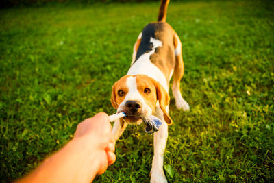
[[[164,119],[163,119],[164,120]],[[163,121],[158,132],[154,134],[154,156],[151,167],[151,183],[167,182],[164,175],[164,149],[168,136],[168,125]]]

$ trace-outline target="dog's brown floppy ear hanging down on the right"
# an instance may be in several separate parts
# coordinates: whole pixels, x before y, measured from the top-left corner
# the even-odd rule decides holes
[[[169,94],[166,92],[166,90],[164,90],[159,82],[153,80],[153,83],[156,88],[157,99],[159,100],[160,108],[164,112],[164,121],[166,121],[168,125],[171,125],[173,121],[169,116],[169,113],[166,112],[166,107],[169,106]]]

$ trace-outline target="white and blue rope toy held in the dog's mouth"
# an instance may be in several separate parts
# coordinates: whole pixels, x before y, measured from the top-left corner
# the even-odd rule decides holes
[[[108,117],[110,118],[110,122],[113,122],[126,116],[127,114],[125,114],[125,112],[119,112],[116,114],[112,114]],[[141,117],[141,119],[147,125],[145,127],[145,132],[147,132],[148,134],[153,134],[154,132],[157,132],[159,130],[159,127],[162,125],[162,121],[158,119],[158,117],[155,117],[153,115],[151,115],[150,117]]]

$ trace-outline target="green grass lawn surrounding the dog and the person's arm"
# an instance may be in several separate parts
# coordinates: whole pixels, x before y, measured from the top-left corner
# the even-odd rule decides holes
[[[0,10],[1,182],[28,173],[97,112],[112,114],[159,3],[47,5]],[[169,182],[274,180],[274,5],[173,2],[167,21],[183,43],[182,94],[164,156]],[[250,95],[249,95],[250,94]],[[130,126],[117,160],[95,182],[149,182],[153,136]]]

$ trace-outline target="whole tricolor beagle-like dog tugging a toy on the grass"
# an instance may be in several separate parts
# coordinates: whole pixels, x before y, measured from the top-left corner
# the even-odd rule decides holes
[[[161,1],[158,21],[149,23],[135,42],[127,75],[112,86],[112,106],[117,113],[127,114],[114,123],[112,133],[115,140],[127,125],[142,123],[141,117],[152,114],[164,122],[154,134],[151,182],[167,182],[163,164],[168,125],[173,123],[169,116],[169,82],[172,76],[176,106],[180,110],[189,110],[180,91],[180,80],[184,75],[182,44],[173,28],[166,23],[168,4],[169,0]]]

